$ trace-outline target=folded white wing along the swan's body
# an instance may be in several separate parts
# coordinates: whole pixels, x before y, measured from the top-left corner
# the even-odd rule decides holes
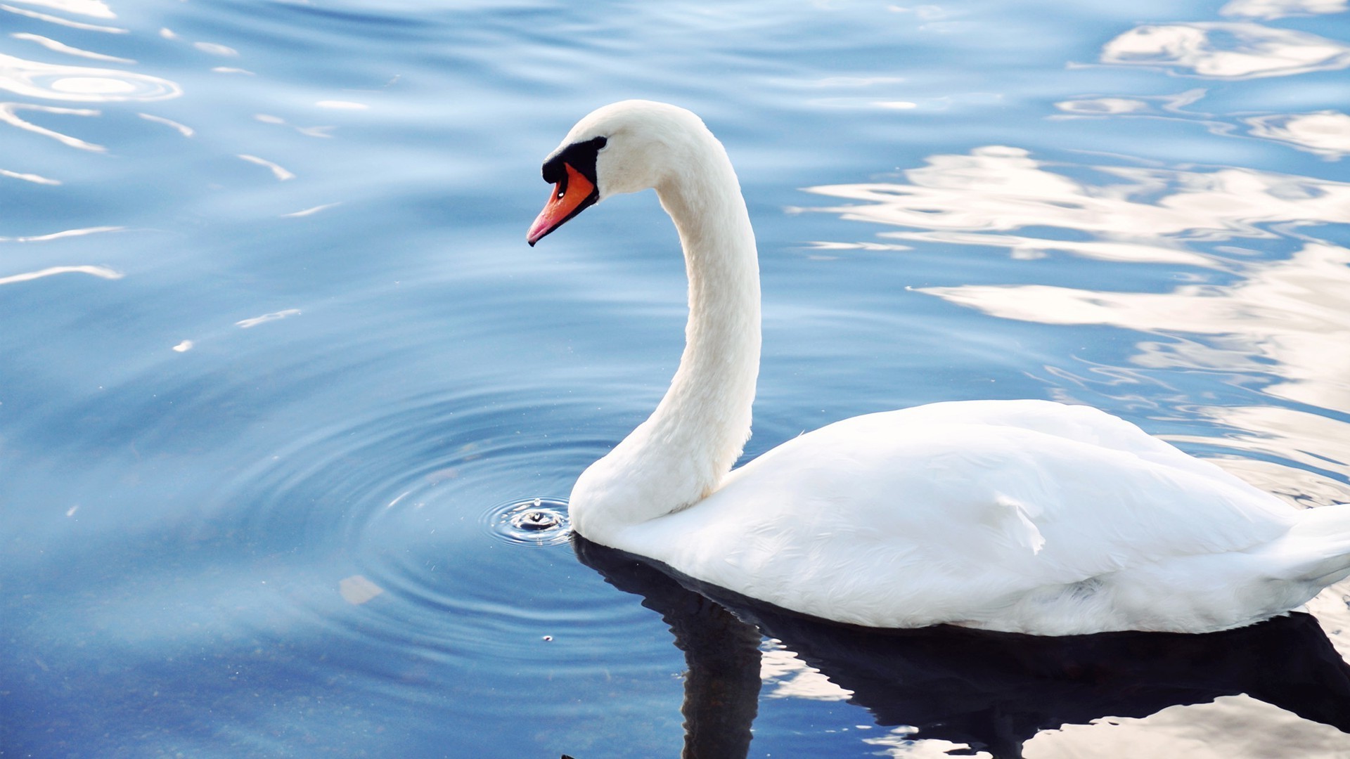
[[[639,552],[747,596],[807,613],[848,598],[880,616],[845,621],[899,627],[1246,551],[1293,517],[1100,411],[979,401],[803,435],[630,536]]]

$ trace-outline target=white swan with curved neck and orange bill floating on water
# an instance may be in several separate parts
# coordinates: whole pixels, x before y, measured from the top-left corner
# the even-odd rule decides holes
[[[587,467],[572,528],[792,612],[876,628],[1214,632],[1350,574],[1350,505],[1291,508],[1103,411],[936,402],[836,421],[732,470],[760,359],[755,234],[726,150],[683,108],[628,100],[548,155],[533,246],[655,189],[688,274],[656,411]]]

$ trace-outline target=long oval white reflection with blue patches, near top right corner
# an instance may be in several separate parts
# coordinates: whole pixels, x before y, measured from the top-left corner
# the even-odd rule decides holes
[[[1246,22],[1145,24],[1107,42],[1102,62],[1243,80],[1343,69],[1350,66],[1350,47],[1315,34]]]

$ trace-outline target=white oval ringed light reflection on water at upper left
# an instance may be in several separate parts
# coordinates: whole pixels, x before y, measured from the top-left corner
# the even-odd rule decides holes
[[[3,54],[0,89],[26,97],[80,103],[167,100],[182,95],[182,88],[177,84],[148,74],[40,63]]]

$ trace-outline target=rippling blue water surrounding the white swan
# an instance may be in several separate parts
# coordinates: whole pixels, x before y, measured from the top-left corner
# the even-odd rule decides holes
[[[1350,500],[1343,3],[9,0],[0,31],[0,754],[670,756],[724,670],[714,745],[752,725],[751,756],[1006,752],[1010,704],[1027,756],[1350,751],[1280,696],[1346,704],[1350,587],[1326,639],[1112,664],[1172,701],[1066,698],[1002,640],[953,690],[913,670],[957,677],[950,639],[747,629],[512,524],[564,516],[679,355],[651,193],[522,242],[541,158],[634,96],[741,174],[748,456],[1044,397]]]

